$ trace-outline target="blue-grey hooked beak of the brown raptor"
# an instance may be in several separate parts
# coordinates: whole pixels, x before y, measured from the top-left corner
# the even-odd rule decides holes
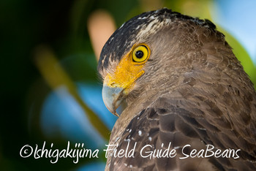
[[[116,109],[120,106],[124,99],[123,91],[124,88],[110,87],[105,84],[103,85],[102,99],[105,106],[108,108],[110,113],[113,113],[113,115],[119,116],[118,113],[116,113]]]

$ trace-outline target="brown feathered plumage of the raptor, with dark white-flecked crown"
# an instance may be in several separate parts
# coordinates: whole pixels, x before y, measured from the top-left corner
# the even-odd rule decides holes
[[[118,144],[117,151],[129,142],[135,157],[112,154],[106,170],[256,170],[256,93],[214,24],[169,9],[138,15],[103,47],[98,66],[102,78],[114,75],[121,59],[139,43],[148,45],[151,54],[134,86],[127,93],[118,92],[118,100],[124,99],[127,107],[109,142]],[[145,145],[164,151],[169,142],[175,157],[141,156]],[[222,153],[241,149],[239,158],[180,159],[183,148],[189,154],[207,145]]]

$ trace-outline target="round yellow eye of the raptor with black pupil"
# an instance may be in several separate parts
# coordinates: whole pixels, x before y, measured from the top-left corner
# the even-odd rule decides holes
[[[148,58],[148,47],[146,45],[139,45],[135,47],[132,52],[132,61],[143,62]]]

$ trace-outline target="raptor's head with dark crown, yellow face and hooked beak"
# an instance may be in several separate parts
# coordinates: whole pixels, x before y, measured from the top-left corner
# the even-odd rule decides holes
[[[141,91],[170,73],[179,75],[177,65],[183,67],[184,60],[188,60],[183,53],[192,48],[187,20],[192,25],[205,23],[160,9],[128,20],[108,39],[98,71],[103,79],[102,98],[111,113],[118,115],[116,109],[127,96],[140,96]]]

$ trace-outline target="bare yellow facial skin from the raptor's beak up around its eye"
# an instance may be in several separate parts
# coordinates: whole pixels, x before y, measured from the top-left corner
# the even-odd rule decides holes
[[[141,50],[140,58],[135,53]],[[146,44],[135,45],[132,50],[124,56],[119,62],[114,73],[109,73],[105,77],[104,83],[109,87],[124,88],[124,93],[128,93],[129,89],[135,85],[135,80],[143,75],[143,66],[150,56],[150,49]]]

